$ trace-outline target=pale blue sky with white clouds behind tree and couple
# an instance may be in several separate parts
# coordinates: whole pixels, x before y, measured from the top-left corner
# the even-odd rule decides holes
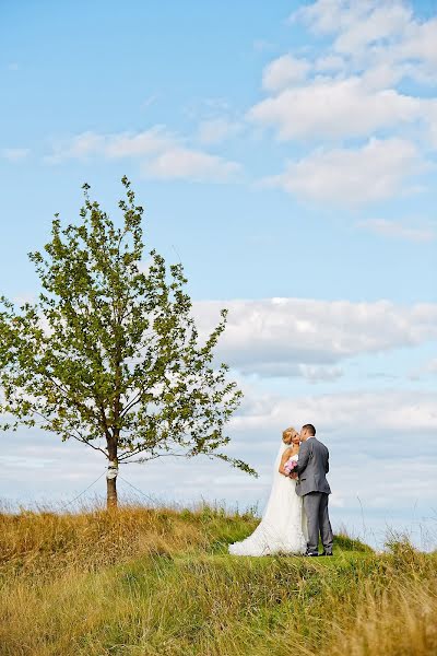
[[[27,254],[83,183],[119,221],[126,174],[201,333],[229,309],[228,453],[260,478],[165,459],[126,466],[122,499],[262,512],[282,430],[311,422],[336,529],[437,546],[436,71],[425,0],[1,2],[0,293],[36,297]],[[105,471],[36,429],[0,440],[10,507]]]

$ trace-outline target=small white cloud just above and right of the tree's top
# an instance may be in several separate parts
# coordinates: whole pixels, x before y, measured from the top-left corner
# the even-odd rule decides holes
[[[190,178],[196,181],[237,181],[241,166],[200,151],[175,148],[160,154],[143,167],[144,175],[161,179]]]

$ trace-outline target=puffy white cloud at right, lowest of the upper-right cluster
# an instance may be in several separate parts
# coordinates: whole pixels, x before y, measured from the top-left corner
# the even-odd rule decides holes
[[[290,162],[283,174],[265,179],[298,198],[362,204],[390,198],[425,168],[416,147],[402,139],[370,141],[361,149],[317,150]]]

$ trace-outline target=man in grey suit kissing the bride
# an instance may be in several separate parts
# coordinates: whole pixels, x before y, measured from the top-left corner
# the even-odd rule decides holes
[[[319,555],[319,534],[323,544],[321,555],[332,555],[332,529],[328,514],[328,495],[331,489],[327,481],[329,452],[316,440],[316,429],[305,424],[300,431],[300,450],[294,473],[298,475],[296,494],[303,496],[308,523],[308,542],[305,555]]]

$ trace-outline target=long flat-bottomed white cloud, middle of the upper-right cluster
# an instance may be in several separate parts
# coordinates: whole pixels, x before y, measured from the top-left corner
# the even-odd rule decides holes
[[[276,128],[282,140],[359,137],[420,117],[417,98],[394,90],[369,91],[359,78],[287,89],[248,113],[250,120]]]

